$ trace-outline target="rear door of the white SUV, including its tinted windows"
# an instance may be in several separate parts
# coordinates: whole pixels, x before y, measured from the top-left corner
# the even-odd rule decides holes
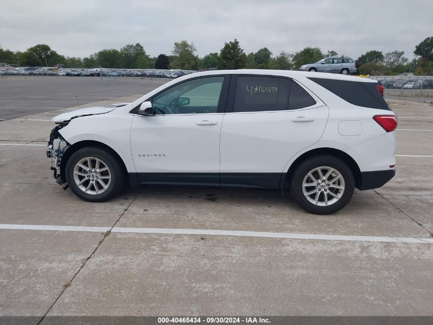
[[[221,127],[221,185],[279,188],[286,163],[320,139],[327,117],[327,106],[296,81],[233,75]]]

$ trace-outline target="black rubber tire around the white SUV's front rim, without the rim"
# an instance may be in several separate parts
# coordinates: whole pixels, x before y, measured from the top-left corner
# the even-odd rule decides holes
[[[100,193],[100,194],[89,194],[89,193],[85,193],[83,189],[81,189],[75,182],[74,179],[74,168],[76,166],[76,164],[82,160],[85,159],[87,157],[92,157],[95,159],[99,159],[104,165],[106,165],[106,167],[108,167],[108,171],[102,172],[101,174],[104,175],[110,175],[110,182],[107,183],[109,184],[108,187],[106,189],[104,189],[104,192]],[[85,163],[85,165],[88,165]],[[85,201],[89,201],[89,202],[104,202],[107,201],[109,199],[111,199],[113,196],[115,196],[116,194],[118,194],[123,187],[125,187],[126,184],[126,171],[125,168],[123,167],[122,163],[120,161],[118,161],[118,159],[108,150],[101,148],[101,147],[84,147],[81,149],[78,149],[77,151],[75,151],[71,157],[68,159],[67,163],[66,163],[66,167],[65,167],[65,176],[66,176],[66,180],[68,182],[69,188],[72,190],[72,192],[79,197],[80,199],[83,199]],[[88,173],[88,171],[84,171],[83,168],[79,169],[79,172],[83,172],[83,173]],[[95,184],[97,184],[96,186],[98,186],[99,190],[102,190],[101,185],[99,183],[96,182],[96,177],[92,178],[95,174],[89,173],[89,182],[91,181],[91,179],[94,180]],[[102,175],[102,176],[104,176]],[[101,175],[99,175],[101,176]],[[81,176],[80,176],[81,177]],[[81,178],[81,180],[83,180],[83,178]],[[106,182],[105,180],[102,180],[103,182]],[[108,181],[107,181],[108,182]],[[87,181],[85,181],[85,183],[83,183],[83,186],[86,186],[87,184],[89,184]],[[95,188],[95,185],[93,185],[93,187],[91,188]],[[92,192],[96,192],[95,190]]]

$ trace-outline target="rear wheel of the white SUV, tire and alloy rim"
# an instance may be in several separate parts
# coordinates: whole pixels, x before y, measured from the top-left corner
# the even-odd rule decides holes
[[[294,170],[291,192],[307,212],[333,214],[352,199],[355,180],[352,170],[334,156],[316,156]]]

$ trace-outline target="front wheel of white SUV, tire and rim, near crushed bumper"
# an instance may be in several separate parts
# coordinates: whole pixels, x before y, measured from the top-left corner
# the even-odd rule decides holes
[[[99,147],[75,151],[66,163],[65,176],[74,194],[90,202],[104,202],[120,192],[126,174],[111,152]]]

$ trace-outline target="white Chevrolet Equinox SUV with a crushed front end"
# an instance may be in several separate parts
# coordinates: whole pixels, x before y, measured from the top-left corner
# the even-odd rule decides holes
[[[199,72],[53,121],[54,177],[92,202],[137,184],[288,188],[306,211],[331,214],[355,187],[395,175],[397,118],[365,78]]]

